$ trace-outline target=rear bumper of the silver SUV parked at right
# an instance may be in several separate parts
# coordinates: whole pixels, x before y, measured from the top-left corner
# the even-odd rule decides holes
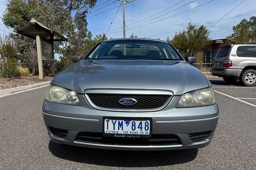
[[[239,78],[242,69],[227,69],[224,68],[223,70],[211,70],[213,76],[218,76],[218,77],[236,77]]]

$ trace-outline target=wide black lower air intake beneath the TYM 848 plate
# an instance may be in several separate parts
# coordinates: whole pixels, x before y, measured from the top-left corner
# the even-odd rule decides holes
[[[122,145],[175,145],[181,144],[175,135],[152,135],[147,138],[105,137],[102,133],[81,132],[76,136],[77,142]]]

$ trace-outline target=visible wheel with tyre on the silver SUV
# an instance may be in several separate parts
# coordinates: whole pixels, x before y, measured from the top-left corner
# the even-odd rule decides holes
[[[242,72],[241,83],[245,86],[255,86],[256,85],[256,70],[246,70]]]

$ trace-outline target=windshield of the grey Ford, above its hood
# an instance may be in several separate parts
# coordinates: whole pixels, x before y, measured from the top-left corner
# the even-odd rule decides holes
[[[183,60],[169,43],[154,40],[102,42],[85,59]]]

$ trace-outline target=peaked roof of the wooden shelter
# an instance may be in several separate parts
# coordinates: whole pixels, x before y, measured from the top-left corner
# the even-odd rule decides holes
[[[47,28],[47,26],[44,26],[34,18],[29,21],[26,26],[16,29],[15,32],[34,40],[36,39],[36,35],[40,34],[42,40],[50,40],[52,36],[55,36],[58,37],[58,39],[53,39],[53,41],[68,41],[67,38],[59,34],[57,31]]]

